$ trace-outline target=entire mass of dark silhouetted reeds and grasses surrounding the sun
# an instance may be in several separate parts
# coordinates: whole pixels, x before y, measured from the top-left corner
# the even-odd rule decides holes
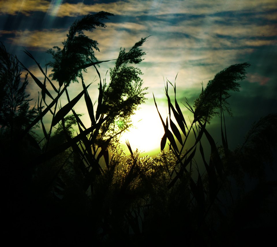
[[[277,180],[267,180],[265,172],[276,162],[277,115],[257,121],[235,150],[228,147],[225,128],[224,114],[231,114],[229,93],[239,91],[238,82],[249,64],[220,71],[194,106],[186,102],[193,116],[190,122],[176,100],[176,86],[167,81],[169,115],[160,117],[161,153],[140,157],[127,143],[127,155],[117,138],[145,101],[141,70],[132,64],[142,61],[145,53],[140,47],[147,37],[130,51],[120,50],[106,83],[97,66],[107,61],[96,59],[98,43],[83,31],[105,27],[101,20],[109,16],[99,12],[73,23],[63,48],[48,51],[53,56],[49,77],[25,51],[37,63],[43,82],[0,47],[3,239],[37,246],[244,246],[274,239]],[[27,71],[23,82],[20,67]],[[95,104],[82,75],[89,67],[99,77]],[[28,77],[41,89],[33,108],[25,93]],[[77,81],[80,92],[70,99],[70,83]],[[62,94],[68,99],[64,106],[59,102]],[[74,111],[81,99],[90,126]],[[46,117],[51,117],[49,128]],[[206,129],[213,117],[221,120],[219,146]],[[33,132],[35,126],[42,128],[42,140]],[[189,138],[194,144],[189,145]],[[201,163],[196,163],[196,155]],[[249,179],[256,183],[246,191]]]

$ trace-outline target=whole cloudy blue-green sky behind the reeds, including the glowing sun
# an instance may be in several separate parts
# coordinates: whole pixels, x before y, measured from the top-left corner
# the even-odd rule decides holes
[[[128,50],[149,36],[142,47],[147,54],[138,65],[144,86],[149,87],[147,100],[132,118],[134,127],[121,136],[123,144],[128,139],[133,149],[157,154],[164,130],[153,94],[165,120],[168,109],[164,85],[166,80],[175,82],[177,101],[188,120],[190,114],[183,106],[186,99],[193,105],[201,93],[201,82],[205,88],[217,72],[232,64],[248,62],[251,66],[247,78],[240,82],[240,92],[231,93],[229,98],[233,112],[233,117],[227,117],[230,147],[242,143],[254,121],[277,112],[276,0],[0,0],[0,41],[43,80],[38,67],[22,50],[31,52],[45,66],[51,60],[46,51],[62,47],[70,25],[100,11],[114,16],[103,21],[105,28],[86,33],[99,43],[100,52],[95,54],[98,60],[116,59],[120,47]],[[102,78],[113,66],[114,61],[101,64]],[[96,100],[99,79],[93,68],[84,74],[84,81],[87,85],[93,82],[88,91]],[[31,78],[27,90],[35,102],[39,89]],[[80,83],[70,84],[70,97],[81,90]],[[172,88],[170,94],[174,95]],[[85,103],[78,102],[74,109],[84,114],[82,120],[89,126]],[[220,144],[219,119],[213,119],[207,128]]]

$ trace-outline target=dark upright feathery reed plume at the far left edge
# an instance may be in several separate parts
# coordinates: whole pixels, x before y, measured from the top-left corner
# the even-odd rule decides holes
[[[0,125],[1,129],[23,130],[38,115],[38,109],[30,107],[29,94],[25,92],[28,85],[28,73],[24,81],[20,78],[20,68],[16,57],[9,54],[0,44]]]

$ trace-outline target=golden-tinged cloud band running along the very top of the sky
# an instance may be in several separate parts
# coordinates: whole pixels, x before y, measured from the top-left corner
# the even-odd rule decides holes
[[[211,14],[222,10],[236,11],[268,11],[276,8],[276,2],[272,0],[252,1],[252,0],[233,0],[233,1],[183,1],[177,0],[172,3],[167,1],[116,1],[110,3],[57,3],[46,0],[0,0],[1,14],[16,15],[19,12],[30,15],[34,11],[48,13],[52,16],[80,16],[93,12],[106,11],[121,16],[159,16],[168,14]],[[272,18],[273,15],[272,15]]]

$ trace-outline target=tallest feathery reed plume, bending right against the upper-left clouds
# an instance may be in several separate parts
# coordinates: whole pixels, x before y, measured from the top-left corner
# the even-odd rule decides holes
[[[58,46],[50,49],[50,53],[55,59],[54,62],[49,62],[52,69],[50,77],[59,82],[59,86],[63,83],[78,82],[78,78],[82,75],[82,69],[86,71],[87,67],[97,64],[98,60],[95,57],[94,50],[100,51],[97,47],[98,42],[92,40],[84,31],[92,32],[96,27],[106,27],[100,22],[102,19],[108,19],[108,16],[113,14],[101,11],[97,14],[88,14],[81,20],[76,20],[69,29],[66,35],[67,40],[64,41],[63,49]]]

